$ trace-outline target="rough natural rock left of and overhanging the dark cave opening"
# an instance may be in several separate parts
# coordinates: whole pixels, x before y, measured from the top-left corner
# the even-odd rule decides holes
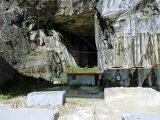
[[[0,56],[11,69],[0,67],[0,74],[9,75],[1,81],[13,79],[14,74],[9,73],[14,69],[51,81],[55,69],[62,72],[68,65],[77,65],[61,33],[71,36],[79,29],[78,34],[93,37],[95,3],[96,0],[2,0]]]

